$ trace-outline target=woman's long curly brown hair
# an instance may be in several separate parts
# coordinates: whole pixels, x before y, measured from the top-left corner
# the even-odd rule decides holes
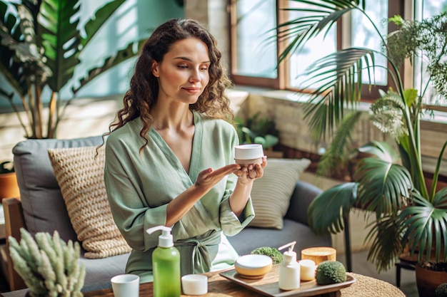
[[[130,81],[130,88],[124,95],[124,108],[116,114],[116,120],[109,125],[109,135],[114,130],[126,125],[135,118],[141,118],[143,127],[140,136],[147,145],[147,132],[151,127],[151,108],[159,95],[159,83],[152,73],[153,62],[161,63],[165,54],[176,41],[185,38],[199,38],[209,50],[211,65],[209,66],[209,83],[196,103],[189,105],[190,110],[196,110],[209,118],[233,120],[233,112],[229,107],[229,100],[225,95],[226,88],[231,86],[231,80],[221,66],[221,52],[217,48],[216,39],[198,21],[192,19],[171,19],[161,24],[151,34],[136,61],[134,75]]]

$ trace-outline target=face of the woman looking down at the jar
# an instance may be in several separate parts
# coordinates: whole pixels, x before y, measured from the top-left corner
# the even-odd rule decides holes
[[[208,47],[198,38],[173,43],[163,61],[154,61],[152,68],[152,73],[159,78],[158,100],[196,103],[209,83],[210,63]]]

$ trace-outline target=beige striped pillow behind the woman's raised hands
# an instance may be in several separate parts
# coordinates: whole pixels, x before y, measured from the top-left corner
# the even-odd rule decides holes
[[[295,184],[311,160],[268,158],[267,162],[263,177],[253,182],[255,217],[248,226],[281,230]]]

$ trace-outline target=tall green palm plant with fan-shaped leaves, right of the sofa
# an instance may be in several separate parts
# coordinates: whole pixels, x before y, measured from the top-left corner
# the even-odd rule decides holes
[[[368,157],[356,164],[353,181],[326,190],[309,207],[309,223],[313,231],[317,234],[342,231],[345,227],[343,218],[353,207],[360,207],[375,214],[366,239],[371,241],[368,261],[376,264],[379,272],[390,269],[405,247],[411,254],[418,254],[419,266],[436,267],[436,264],[446,262],[447,188],[436,189],[447,141],[439,153],[432,187],[428,188],[422,167],[420,121],[426,110],[423,98],[427,84],[431,83],[441,98],[447,98],[447,13],[422,21],[396,16],[389,20],[396,24],[396,31],[381,36],[366,12],[366,1],[295,2],[307,6],[291,10],[306,14],[278,25],[279,37],[291,41],[281,53],[279,62],[292,51],[299,51],[314,36],[324,34],[351,11],[363,15],[363,20],[369,22],[383,44],[383,51],[343,48],[321,58],[308,69],[308,81],[323,82],[311,90],[306,108],[311,129],[316,135],[324,135],[327,130],[335,131],[333,145],[323,155],[322,165],[337,165],[349,151],[351,131],[358,120],[362,71],[366,69],[368,73],[369,83],[366,84],[373,85],[373,73],[381,67],[375,62],[378,56],[388,61],[393,85],[386,92],[382,91],[380,98],[371,105],[372,123],[390,133],[395,140],[393,145],[371,142],[358,148]],[[414,63],[416,56],[428,63],[426,73],[429,77],[417,84],[422,85],[418,90],[416,87],[404,88],[403,61],[409,58]],[[445,269],[445,265],[443,267]],[[447,272],[441,283],[446,279]],[[430,293],[420,291],[423,296],[433,293],[434,289]]]

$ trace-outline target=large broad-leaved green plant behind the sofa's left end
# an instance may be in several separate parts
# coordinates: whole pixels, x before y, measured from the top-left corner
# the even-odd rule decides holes
[[[79,0],[0,1],[0,73],[11,88],[0,86],[19,117],[27,138],[54,138],[64,107],[60,91],[69,83],[84,48],[124,0],[101,6],[80,25]],[[86,71],[73,95],[96,76],[136,56],[142,41],[131,42]],[[138,45],[137,45],[137,44]],[[49,88],[50,92],[44,92]],[[12,89],[12,91],[11,91]],[[49,93],[48,98],[43,94]],[[14,97],[20,102],[16,104]],[[21,118],[21,111],[26,117]]]

